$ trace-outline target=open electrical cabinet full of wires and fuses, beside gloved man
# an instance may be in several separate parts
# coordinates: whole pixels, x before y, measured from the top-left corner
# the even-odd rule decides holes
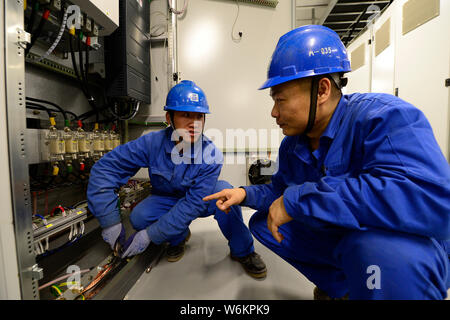
[[[129,125],[139,126],[151,104],[151,42],[174,56],[175,20],[165,9],[167,26],[155,39],[148,0],[2,2],[2,189],[11,207],[2,213],[9,223],[0,257],[8,274],[17,272],[5,280],[5,297],[122,299],[164,250],[114,257],[86,189],[95,162],[128,142]],[[130,235],[128,215],[151,182],[132,178],[116,191]]]

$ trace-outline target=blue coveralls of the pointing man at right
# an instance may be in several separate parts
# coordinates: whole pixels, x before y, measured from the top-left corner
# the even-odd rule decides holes
[[[285,137],[268,185],[245,187],[256,239],[331,297],[443,299],[450,287],[450,169],[420,110],[344,95],[314,152]],[[284,196],[294,219],[267,228]]]

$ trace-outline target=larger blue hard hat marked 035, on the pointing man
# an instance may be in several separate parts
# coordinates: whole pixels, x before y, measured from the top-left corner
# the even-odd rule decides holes
[[[350,60],[338,34],[321,25],[306,25],[280,38],[267,81],[259,89],[294,79],[349,71]]]

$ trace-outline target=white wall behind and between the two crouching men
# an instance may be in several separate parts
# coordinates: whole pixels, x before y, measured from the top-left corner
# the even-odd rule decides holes
[[[167,3],[166,0],[154,0],[152,10],[162,11],[164,2]],[[184,0],[178,0],[178,10],[183,4]],[[269,150],[272,151],[270,159],[276,160],[283,139],[281,130],[270,116],[273,101],[269,91],[258,88],[266,80],[278,39],[292,28],[292,1],[280,1],[276,8],[239,3],[234,37],[238,37],[238,32],[243,36],[240,41],[233,41],[231,32],[237,13],[235,1],[191,0],[186,13],[177,19],[180,80],[193,80],[205,91],[211,109],[205,131],[208,134],[211,129],[216,129],[216,135],[209,137],[224,151],[226,159],[234,156],[231,163],[225,162],[220,176],[234,186],[247,183],[245,157],[249,152]],[[156,17],[153,16],[154,23]],[[166,62],[160,49],[155,49],[155,72],[163,73]],[[165,92],[154,82],[152,90],[150,114],[160,116]],[[231,139],[226,139],[227,129],[242,129],[243,135],[255,130],[258,134],[256,148],[249,143],[250,139],[244,145],[238,145],[237,140],[233,144]],[[267,137],[258,130],[267,130]]]

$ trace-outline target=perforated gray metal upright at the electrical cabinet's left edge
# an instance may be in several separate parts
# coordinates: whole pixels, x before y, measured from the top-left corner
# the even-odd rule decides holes
[[[22,299],[38,299],[37,281],[32,272],[35,255],[25,149],[25,59],[24,50],[18,43],[19,32],[24,29],[23,6],[23,0],[5,2],[9,166],[21,295]]]

